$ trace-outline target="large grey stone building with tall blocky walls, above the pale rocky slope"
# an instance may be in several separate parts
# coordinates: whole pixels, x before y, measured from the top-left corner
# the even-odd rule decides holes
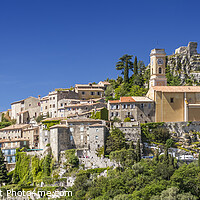
[[[59,124],[51,126],[50,130],[41,126],[40,148],[44,149],[50,144],[56,160],[60,151],[67,149],[78,149],[79,157],[91,156],[94,152],[91,153],[90,148],[93,150],[104,146],[106,131],[107,128],[101,120],[63,119]]]

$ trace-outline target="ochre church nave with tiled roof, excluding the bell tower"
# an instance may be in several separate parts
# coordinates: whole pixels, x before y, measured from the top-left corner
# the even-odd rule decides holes
[[[155,122],[200,121],[200,86],[154,86]]]

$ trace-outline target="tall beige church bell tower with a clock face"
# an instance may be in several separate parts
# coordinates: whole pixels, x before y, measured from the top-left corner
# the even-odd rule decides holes
[[[164,49],[152,49],[150,54],[150,80],[149,88],[152,86],[166,86],[165,77],[166,53]]]

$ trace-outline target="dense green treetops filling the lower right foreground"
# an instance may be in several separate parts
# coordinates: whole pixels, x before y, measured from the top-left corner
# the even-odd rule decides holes
[[[117,152],[116,159],[133,156],[130,151]],[[193,162],[189,165],[177,166],[173,157],[160,156],[158,160],[142,159],[138,163],[124,159],[123,168],[110,169],[107,176],[97,178],[87,173],[77,176],[72,199],[198,199],[200,196],[200,169]],[[171,198],[170,198],[171,197]]]

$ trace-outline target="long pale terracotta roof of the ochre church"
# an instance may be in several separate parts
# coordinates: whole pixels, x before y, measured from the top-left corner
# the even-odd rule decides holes
[[[161,92],[200,92],[200,86],[153,86],[152,89]]]

